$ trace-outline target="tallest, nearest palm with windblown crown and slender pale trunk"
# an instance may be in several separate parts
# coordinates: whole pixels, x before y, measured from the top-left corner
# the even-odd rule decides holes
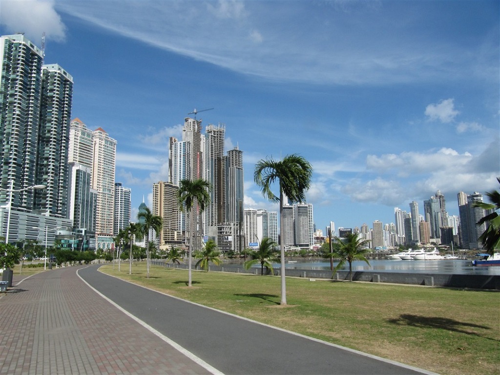
[[[271,202],[279,202],[279,231],[281,233],[281,301],[286,304],[286,281],[284,274],[284,242],[283,242],[283,196],[292,203],[305,200],[305,191],[309,189],[312,166],[302,156],[291,154],[280,161],[272,159],[259,160],[255,165],[253,179],[260,186],[262,195]],[[278,180],[279,196],[271,191],[271,184]]]

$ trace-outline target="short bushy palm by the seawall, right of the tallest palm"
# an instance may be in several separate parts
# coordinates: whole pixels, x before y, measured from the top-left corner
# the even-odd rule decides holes
[[[334,246],[333,252],[327,254],[327,256],[333,258],[340,258],[338,264],[333,268],[333,274],[342,268],[347,261],[349,263],[349,281],[352,281],[353,260],[364,260],[370,265],[368,259],[364,256],[364,254],[369,252],[369,248],[366,247],[368,240],[359,238],[358,233],[347,233],[343,238],[335,237],[335,240],[338,245]]]

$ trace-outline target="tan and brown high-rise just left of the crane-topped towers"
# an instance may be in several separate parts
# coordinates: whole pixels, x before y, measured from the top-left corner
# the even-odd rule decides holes
[[[179,226],[179,206],[177,192],[179,188],[171,182],[153,183],[153,208],[151,213],[160,216],[163,225],[158,233],[162,248],[179,248],[182,245],[182,233]]]

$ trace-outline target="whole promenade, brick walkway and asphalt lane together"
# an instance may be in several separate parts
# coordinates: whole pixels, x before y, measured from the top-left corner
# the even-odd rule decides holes
[[[96,265],[14,275],[0,316],[2,375],[429,373],[145,289]]]

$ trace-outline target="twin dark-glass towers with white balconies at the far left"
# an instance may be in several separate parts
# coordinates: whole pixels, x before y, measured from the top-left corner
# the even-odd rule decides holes
[[[0,187],[11,191],[1,191],[0,202],[12,198],[9,240],[35,239],[28,213],[29,225],[45,229],[52,244],[56,228],[71,226],[66,149],[72,78],[58,65],[42,64],[41,49],[24,35],[0,37]],[[35,184],[45,189],[29,188]]]

